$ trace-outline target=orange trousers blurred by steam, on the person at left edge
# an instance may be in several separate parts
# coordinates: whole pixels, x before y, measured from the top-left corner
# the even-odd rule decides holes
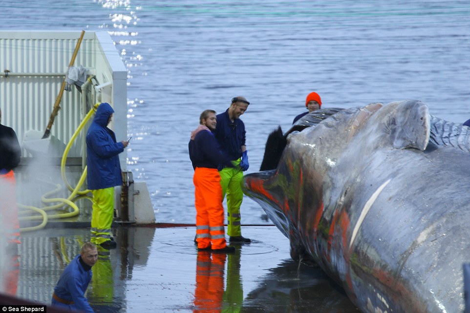
[[[9,243],[20,243],[16,180],[13,170],[0,175],[0,199],[1,229],[6,232]]]

